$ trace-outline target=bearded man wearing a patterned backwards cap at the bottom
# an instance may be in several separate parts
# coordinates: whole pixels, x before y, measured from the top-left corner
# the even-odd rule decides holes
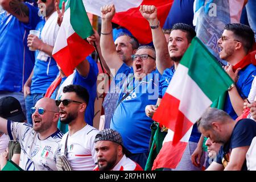
[[[98,165],[93,171],[143,171],[139,164],[128,158],[130,151],[123,146],[121,135],[112,129],[104,129],[96,135]]]

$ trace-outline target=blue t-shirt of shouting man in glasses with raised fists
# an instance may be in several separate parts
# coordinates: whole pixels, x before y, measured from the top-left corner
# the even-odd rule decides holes
[[[133,68],[123,64],[115,76],[121,93],[118,102],[126,93],[129,95],[115,109],[110,129],[117,130],[124,146],[133,154],[148,151],[151,137],[152,119],[145,114],[145,107],[153,105],[158,99],[160,73],[153,71],[141,81],[135,80]],[[125,81],[120,81],[126,79]]]

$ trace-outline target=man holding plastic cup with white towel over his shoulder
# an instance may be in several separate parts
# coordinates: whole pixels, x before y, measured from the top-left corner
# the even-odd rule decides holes
[[[38,0],[39,15],[43,16],[35,30],[40,32],[39,36],[28,35],[27,46],[35,49],[35,66],[24,84],[24,97],[27,108],[27,122],[31,123],[30,107],[46,94],[47,88],[55,80],[59,69],[52,57],[59,25],[58,14],[55,8],[55,0]]]

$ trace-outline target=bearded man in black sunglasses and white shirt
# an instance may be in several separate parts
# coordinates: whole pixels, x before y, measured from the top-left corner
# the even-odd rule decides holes
[[[61,140],[61,154],[66,154],[74,171],[93,170],[97,162],[94,139],[98,130],[85,121],[89,104],[87,90],[80,85],[65,86],[61,100],[55,102],[60,109],[60,122],[68,125],[68,132]]]

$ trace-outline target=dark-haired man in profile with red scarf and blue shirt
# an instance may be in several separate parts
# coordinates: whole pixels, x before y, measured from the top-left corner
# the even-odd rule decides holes
[[[220,58],[228,61],[225,71],[234,81],[228,89],[224,104],[224,111],[233,119],[242,114],[243,102],[249,96],[256,75],[256,67],[251,64],[251,57],[246,56],[254,42],[253,30],[240,23],[226,24],[221,38],[218,39]]]

